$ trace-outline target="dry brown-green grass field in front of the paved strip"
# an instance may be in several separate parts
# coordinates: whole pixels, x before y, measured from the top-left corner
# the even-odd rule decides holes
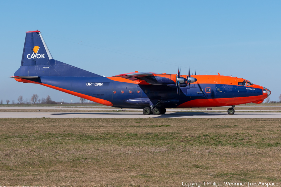
[[[281,182],[280,119],[2,118],[0,185]]]

